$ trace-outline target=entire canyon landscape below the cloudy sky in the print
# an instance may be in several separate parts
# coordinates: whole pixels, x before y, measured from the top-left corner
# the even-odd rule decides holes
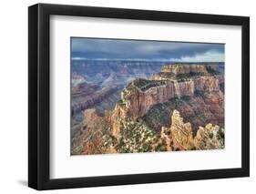
[[[224,148],[224,64],[72,60],[71,154]]]

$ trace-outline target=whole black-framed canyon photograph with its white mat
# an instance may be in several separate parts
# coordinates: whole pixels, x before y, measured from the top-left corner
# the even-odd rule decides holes
[[[250,19],[28,8],[28,185],[250,174]]]

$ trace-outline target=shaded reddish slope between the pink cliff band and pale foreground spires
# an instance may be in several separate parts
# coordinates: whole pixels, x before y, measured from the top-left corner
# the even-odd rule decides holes
[[[169,114],[177,109],[189,122],[195,135],[199,126],[212,123],[224,128],[224,95],[222,92],[195,92],[193,97],[175,97],[151,107],[142,119],[150,128],[160,130],[170,125]]]

